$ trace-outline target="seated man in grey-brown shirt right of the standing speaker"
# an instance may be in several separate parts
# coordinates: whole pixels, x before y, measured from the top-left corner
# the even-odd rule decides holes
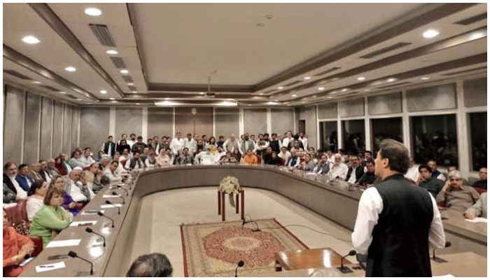
[[[479,199],[479,194],[472,187],[463,186],[463,177],[458,171],[447,175],[449,180],[444,184],[442,190],[437,194],[437,203],[444,202],[444,206],[463,213],[472,207]]]

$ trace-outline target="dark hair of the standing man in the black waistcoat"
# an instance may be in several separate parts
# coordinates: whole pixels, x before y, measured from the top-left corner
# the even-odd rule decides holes
[[[405,145],[393,139],[385,139],[379,144],[379,155],[381,160],[387,158],[391,170],[407,173],[409,166],[409,155]]]

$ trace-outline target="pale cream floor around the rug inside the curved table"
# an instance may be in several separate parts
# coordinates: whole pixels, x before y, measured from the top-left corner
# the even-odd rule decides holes
[[[245,213],[253,219],[276,218],[282,225],[306,225],[335,237],[350,240],[351,231],[298,204],[267,190],[246,188]],[[132,260],[145,253],[165,253],[174,267],[174,276],[183,276],[181,223],[211,223],[218,216],[216,187],[169,190],[144,197],[132,247]],[[239,220],[235,209],[226,205],[227,221]],[[330,247],[344,254],[352,249],[350,241],[321,235],[307,228],[288,227],[309,248]],[[355,257],[354,257],[355,258]],[[355,259],[349,257],[349,260]],[[126,264],[129,267],[130,264]],[[127,269],[123,269],[124,274]],[[123,275],[122,275],[123,276]]]

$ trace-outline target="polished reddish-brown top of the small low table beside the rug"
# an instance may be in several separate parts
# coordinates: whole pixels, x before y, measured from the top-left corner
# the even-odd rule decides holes
[[[281,251],[274,253],[276,262],[286,270],[307,269],[316,267],[336,267],[340,265],[342,255],[331,248],[316,248],[297,251]],[[351,265],[344,260],[345,265]]]

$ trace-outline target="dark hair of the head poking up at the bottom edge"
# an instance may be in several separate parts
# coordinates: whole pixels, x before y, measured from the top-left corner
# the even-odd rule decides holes
[[[127,271],[126,277],[172,277],[174,269],[166,255],[140,255]]]

